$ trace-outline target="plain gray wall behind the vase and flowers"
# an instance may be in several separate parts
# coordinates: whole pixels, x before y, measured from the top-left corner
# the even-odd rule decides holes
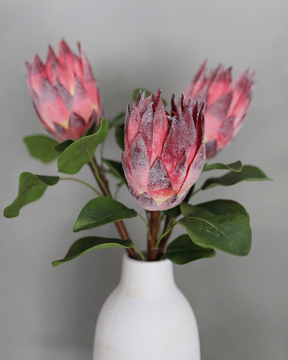
[[[55,163],[32,159],[22,141],[45,134],[26,87],[24,60],[36,52],[45,60],[48,43],[57,48],[64,37],[76,51],[76,41],[82,42],[107,117],[126,108],[135,87],[161,87],[166,99],[178,97],[204,58],[210,68],[233,65],[234,78],[247,67],[256,69],[244,126],[215,161],[241,159],[274,181],[218,187],[195,197],[196,203],[242,203],[251,216],[251,253],[237,258],[218,252],[175,266],[175,278],[198,320],[202,360],[286,360],[287,1],[6,0],[0,17],[1,209],[16,197],[20,172],[57,175]],[[112,135],[106,152],[120,157]],[[93,183],[88,168],[77,177]],[[122,251],[95,251],[51,266],[81,236],[116,236],[113,225],[72,233],[91,197],[84,186],[62,181],[19,217],[1,215],[0,359],[91,359],[96,318],[118,282]],[[143,213],[128,192],[120,198]],[[141,220],[126,223],[144,247]]]

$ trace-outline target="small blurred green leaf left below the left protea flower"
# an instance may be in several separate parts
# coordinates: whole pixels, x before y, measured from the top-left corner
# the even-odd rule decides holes
[[[24,143],[26,144],[30,155],[44,163],[51,162],[59,156],[58,152],[54,149],[58,142],[49,138],[49,136],[26,136],[26,138],[24,138]]]

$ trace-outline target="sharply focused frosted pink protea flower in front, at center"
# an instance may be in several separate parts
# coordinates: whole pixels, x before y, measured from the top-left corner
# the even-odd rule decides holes
[[[172,98],[171,116],[161,91],[144,92],[125,120],[125,155],[122,165],[135,200],[146,210],[167,210],[178,205],[201,174],[205,161],[204,103],[192,107],[181,99],[179,114]]]

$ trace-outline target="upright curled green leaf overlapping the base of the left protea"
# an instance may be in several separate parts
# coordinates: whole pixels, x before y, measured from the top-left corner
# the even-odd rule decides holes
[[[96,127],[95,134],[85,136],[68,146],[59,156],[58,171],[64,174],[76,174],[83,165],[91,162],[97,146],[107,138],[108,121],[103,117]]]

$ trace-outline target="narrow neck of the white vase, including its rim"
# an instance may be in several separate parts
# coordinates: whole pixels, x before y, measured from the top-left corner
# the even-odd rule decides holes
[[[119,285],[124,289],[141,289],[146,294],[163,292],[168,288],[176,287],[172,265],[168,259],[140,261],[131,259],[125,254]]]

